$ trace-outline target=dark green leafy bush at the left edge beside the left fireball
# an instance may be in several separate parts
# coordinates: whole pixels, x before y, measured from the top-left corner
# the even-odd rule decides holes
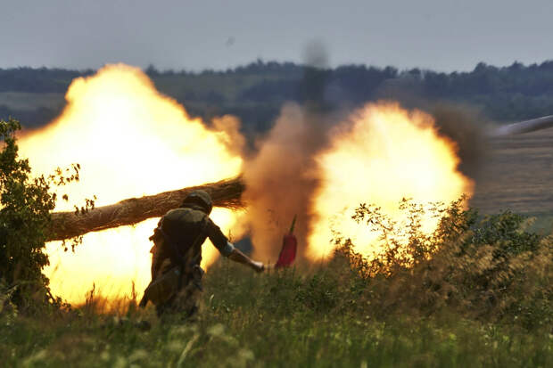
[[[15,119],[0,120],[4,142],[0,151],[0,285],[11,290],[10,302],[31,312],[59,302],[50,295],[42,274],[48,265],[44,248],[56,200],[51,189],[77,181],[79,168],[74,165],[57,169],[51,176],[32,177],[29,160],[18,156],[15,132],[20,128]]]

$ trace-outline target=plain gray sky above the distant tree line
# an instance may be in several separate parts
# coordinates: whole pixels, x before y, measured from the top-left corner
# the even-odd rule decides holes
[[[303,61],[472,70],[553,59],[553,0],[0,0],[0,68]]]

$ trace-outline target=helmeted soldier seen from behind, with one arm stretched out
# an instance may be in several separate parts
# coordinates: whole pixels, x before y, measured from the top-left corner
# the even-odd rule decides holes
[[[156,306],[159,316],[168,312],[184,313],[185,317],[197,311],[197,298],[202,290],[202,243],[210,238],[219,252],[235,262],[262,272],[265,266],[244,255],[227,240],[209,215],[212,204],[204,191],[190,192],[178,209],[171,209],[161,217],[150,240],[153,241],[152,282],[144,290],[140,306],[148,300]]]

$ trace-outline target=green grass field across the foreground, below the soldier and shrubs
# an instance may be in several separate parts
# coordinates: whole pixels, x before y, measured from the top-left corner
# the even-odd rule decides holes
[[[88,306],[47,319],[3,319],[0,359],[26,367],[541,366],[553,331],[456,314],[375,315],[343,266],[252,274],[219,262],[206,276],[195,323],[160,323],[121,307]],[[374,302],[375,300],[373,300]],[[125,309],[127,309],[125,311]],[[142,331],[140,321],[152,328]]]

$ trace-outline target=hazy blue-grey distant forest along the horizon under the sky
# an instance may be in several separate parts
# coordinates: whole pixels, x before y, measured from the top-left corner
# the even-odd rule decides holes
[[[208,120],[233,114],[242,119],[245,133],[266,131],[287,101],[313,100],[330,108],[379,99],[423,108],[453,102],[499,122],[553,114],[553,61],[502,68],[481,62],[475,70],[452,73],[364,65],[320,70],[274,61],[224,71],[160,71],[153,66],[145,71],[161,93],[185,105],[190,114]],[[94,72],[0,69],[0,118],[13,116],[24,126],[42,126],[62,110],[71,80]]]

